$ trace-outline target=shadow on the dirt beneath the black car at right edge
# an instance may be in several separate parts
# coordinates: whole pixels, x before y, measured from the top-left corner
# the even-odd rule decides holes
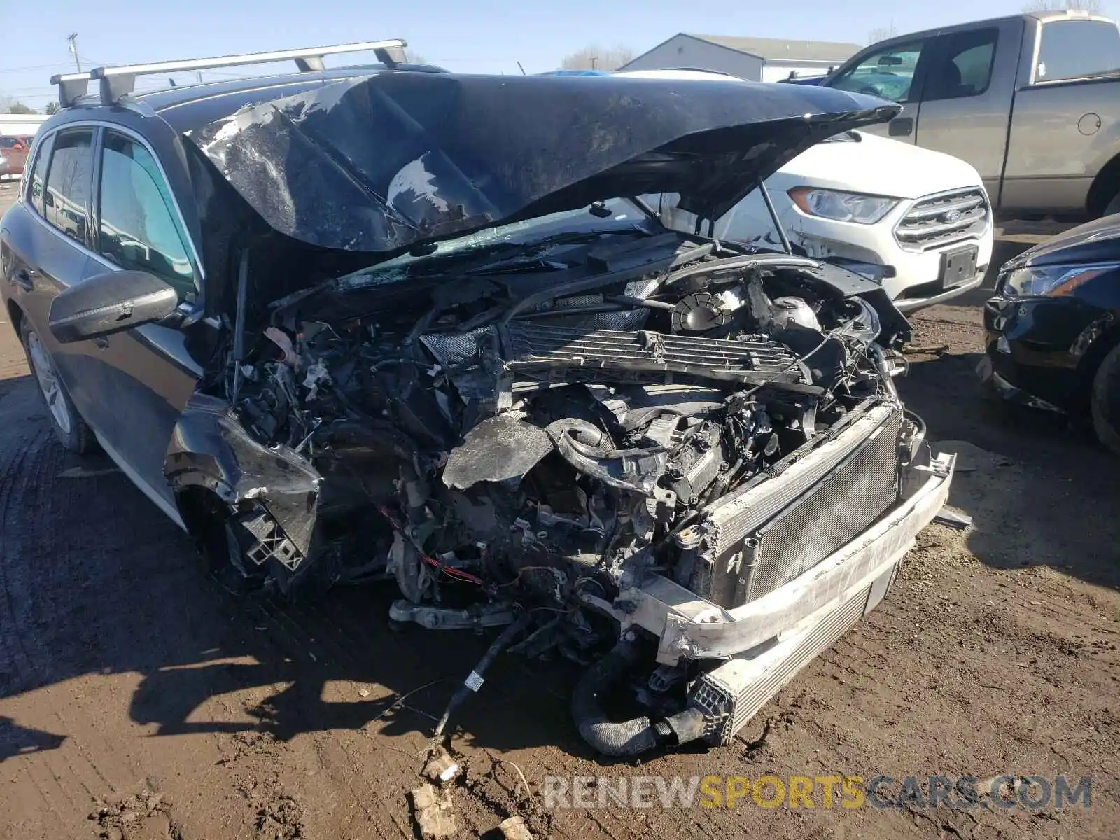
[[[933,356],[899,383],[932,441],[977,448],[961,448],[950,495],[973,519],[969,550],[996,568],[1049,566],[1120,586],[1120,459],[1075,420],[986,395],[980,358]]]

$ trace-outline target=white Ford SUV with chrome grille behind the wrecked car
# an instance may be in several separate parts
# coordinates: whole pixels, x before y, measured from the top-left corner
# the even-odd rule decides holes
[[[633,71],[647,78],[722,80],[708,71]],[[951,155],[859,131],[818,143],[766,179],[795,251],[881,282],[904,312],[941,304],[983,282],[992,222],[980,175]],[[693,217],[662,200],[666,224]],[[718,239],[781,245],[758,190],[716,224]]]

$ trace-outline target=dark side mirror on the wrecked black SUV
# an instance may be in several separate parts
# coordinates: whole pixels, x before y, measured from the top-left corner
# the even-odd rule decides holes
[[[50,302],[47,323],[62,344],[99,338],[171,315],[179,296],[147,271],[110,271],[72,286]]]

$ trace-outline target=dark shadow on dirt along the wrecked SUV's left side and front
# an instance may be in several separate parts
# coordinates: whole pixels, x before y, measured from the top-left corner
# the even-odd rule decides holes
[[[58,446],[30,377],[0,381],[0,698],[138,673],[127,713],[160,736],[288,739],[371,724],[390,737],[429,735],[494,635],[391,631],[391,582],[309,603],[232,596],[108,457]],[[577,676],[562,660],[500,657],[448,731],[495,749],[586,752],[567,707]],[[0,732],[0,749],[65,737]]]

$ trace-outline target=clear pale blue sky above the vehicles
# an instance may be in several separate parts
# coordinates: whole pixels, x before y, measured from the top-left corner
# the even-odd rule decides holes
[[[74,67],[66,46],[73,31],[78,34],[86,69],[402,37],[428,62],[455,72],[517,73],[521,62],[526,72],[538,73],[558,67],[566,54],[590,43],[623,45],[637,54],[675,32],[700,31],[865,44],[871,29],[888,27],[892,19],[899,32],[914,31],[1014,13],[1024,0],[706,0],[700,4],[687,0],[9,0],[9,4],[13,13],[0,50],[0,95],[38,109],[54,99],[49,76]],[[1105,0],[1103,7],[1105,13],[1120,16],[1120,0]],[[164,86],[166,81],[146,80],[138,88],[156,84]]]

